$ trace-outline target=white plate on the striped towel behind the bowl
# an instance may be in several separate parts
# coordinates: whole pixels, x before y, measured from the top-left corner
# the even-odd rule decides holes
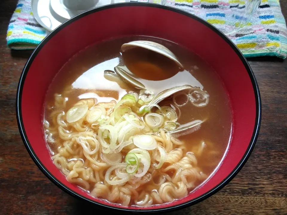
[[[107,4],[128,2],[129,0],[99,0],[95,7]],[[84,11],[69,10],[62,0],[32,0],[31,8],[36,21],[48,31]]]

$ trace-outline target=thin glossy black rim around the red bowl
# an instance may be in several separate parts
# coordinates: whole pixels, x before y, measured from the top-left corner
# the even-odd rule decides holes
[[[227,42],[230,47],[232,47],[232,49],[235,51],[235,53],[239,56],[239,58],[241,59],[242,63],[244,64],[249,77],[251,79],[252,85],[253,85],[253,90],[254,90],[254,95],[255,95],[255,100],[256,100],[256,119],[255,119],[255,125],[254,125],[254,130],[253,130],[253,134],[252,134],[252,138],[251,141],[248,145],[247,150],[245,151],[244,156],[242,157],[242,159],[240,160],[240,162],[238,163],[238,165],[233,169],[233,171],[224,179],[222,180],[222,182],[220,182],[216,187],[212,188],[210,191],[202,194],[201,196],[192,199],[188,202],[184,202],[182,204],[179,205],[174,205],[174,206],[170,206],[170,207],[164,207],[164,208],[158,208],[158,209],[128,209],[128,208],[117,208],[116,206],[109,206],[109,205],[104,205],[98,202],[94,202],[91,199],[88,199],[74,191],[72,191],[70,188],[68,188],[67,186],[65,186],[64,184],[62,184],[57,178],[55,178],[46,168],[45,166],[42,164],[42,162],[38,159],[38,157],[36,156],[35,152],[33,151],[33,148],[30,145],[30,142],[27,138],[26,132],[25,132],[25,128],[23,125],[23,121],[22,121],[22,110],[21,110],[21,100],[22,100],[22,90],[23,90],[23,85],[25,82],[25,78],[26,75],[28,73],[28,70],[33,62],[33,60],[35,59],[35,57],[37,56],[37,54],[39,53],[39,51],[41,50],[41,48],[57,33],[59,32],[62,28],[66,27],[67,25],[69,25],[70,23],[84,17],[87,16],[91,13],[95,13],[97,11],[101,11],[101,10],[105,10],[105,9],[109,9],[109,8],[115,8],[115,7],[129,7],[129,6],[143,6],[143,7],[157,7],[157,8],[161,8],[164,10],[170,10],[176,13],[180,13],[183,14],[185,16],[190,17],[191,19],[195,19],[196,21],[201,22],[202,24],[204,24],[205,26],[209,27],[211,30],[213,30],[214,32],[216,32],[219,36],[221,36],[222,39],[225,40],[225,42]],[[251,70],[251,67],[249,66],[246,58],[242,55],[242,53],[240,52],[240,50],[236,47],[235,44],[233,44],[233,42],[231,42],[230,39],[228,39],[227,36],[225,36],[224,33],[222,33],[220,30],[218,30],[216,27],[214,27],[213,25],[209,24],[207,21],[204,21],[203,19],[187,13],[183,10],[179,10],[176,9],[174,7],[169,7],[169,6],[164,6],[164,5],[160,5],[160,4],[151,4],[151,3],[118,3],[118,4],[110,4],[110,5],[106,5],[106,6],[102,6],[102,7],[97,7],[91,10],[88,10],[84,13],[81,13],[75,17],[73,17],[72,19],[69,19],[68,21],[66,21],[65,23],[63,23],[62,25],[60,25],[59,27],[57,27],[54,31],[52,31],[48,36],[45,37],[45,39],[42,40],[42,42],[36,47],[36,49],[33,51],[32,55],[30,56],[30,58],[28,59],[27,63],[25,64],[25,67],[22,71],[22,74],[20,76],[20,80],[19,80],[19,84],[18,84],[18,89],[17,89],[17,96],[16,96],[16,113],[17,113],[17,123],[18,123],[18,127],[19,127],[19,131],[22,137],[22,140],[24,142],[24,145],[30,155],[30,157],[33,159],[33,161],[35,162],[35,164],[38,166],[38,168],[45,174],[45,176],[48,177],[48,179],[50,179],[55,185],[57,185],[60,189],[62,189],[63,191],[69,193],[72,196],[77,197],[78,199],[82,199],[82,200],[86,200],[88,202],[93,203],[94,205],[97,206],[101,206],[101,208],[106,208],[106,209],[113,209],[116,211],[122,211],[122,212],[163,212],[163,211],[171,211],[171,210],[178,210],[178,209],[182,209],[182,208],[186,208],[188,206],[191,205],[195,205],[201,201],[203,201],[204,199],[207,199],[208,197],[212,196],[214,193],[218,192],[220,189],[222,189],[225,185],[228,184],[228,182],[230,182],[236,175],[237,173],[241,170],[241,168],[245,165],[246,161],[248,160],[249,156],[251,155],[251,152],[255,146],[258,134],[259,134],[259,128],[260,128],[260,123],[261,123],[261,99],[260,99],[260,93],[259,93],[259,88],[257,85],[257,81],[255,79],[254,73]]]

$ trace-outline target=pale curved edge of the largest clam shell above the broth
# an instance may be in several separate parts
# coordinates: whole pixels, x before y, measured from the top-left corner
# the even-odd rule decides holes
[[[157,52],[159,54],[162,54],[169,59],[173,60],[180,68],[183,68],[183,65],[178,61],[174,53],[172,53],[167,47],[158,44],[156,42],[151,42],[151,41],[144,41],[144,40],[138,40],[138,41],[132,41],[129,43],[125,43],[121,46],[122,51],[126,51],[131,48],[135,47],[142,47],[154,52]]]

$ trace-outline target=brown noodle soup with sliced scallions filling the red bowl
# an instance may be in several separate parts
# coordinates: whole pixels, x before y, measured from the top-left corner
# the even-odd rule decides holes
[[[123,43],[134,40],[163,44],[184,70],[143,48],[120,53]],[[118,65],[126,65],[146,92],[118,79]],[[182,85],[196,88],[140,109],[152,94]],[[197,124],[172,133],[190,122]],[[45,137],[56,167],[92,196],[121,205],[187,196],[219,165],[231,124],[228,95],[213,68],[177,44],[150,37],[86,48],[62,67],[45,99]]]

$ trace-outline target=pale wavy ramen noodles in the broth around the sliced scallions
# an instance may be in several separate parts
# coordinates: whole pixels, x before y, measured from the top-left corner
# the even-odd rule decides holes
[[[194,147],[192,150],[194,153],[187,152],[183,141],[173,138],[164,130],[159,130],[158,133],[153,133],[152,137],[167,153],[162,168],[155,169],[154,165],[150,165],[148,172],[141,178],[131,177],[127,182],[110,185],[105,177],[111,165],[102,160],[100,155],[104,149],[100,144],[97,145],[100,123],[91,124],[86,121],[89,110],[77,122],[68,123],[64,112],[67,101],[68,99],[64,96],[56,94],[54,108],[51,108],[49,114],[51,123],[44,121],[47,142],[54,147],[55,151],[55,155],[51,158],[54,165],[66,176],[68,182],[90,191],[91,196],[124,206],[162,204],[186,196],[188,189],[195,188],[207,178],[207,175],[198,167],[196,157],[202,156],[205,153],[204,148],[211,144],[201,143]],[[83,104],[88,105],[89,108],[101,105],[106,109],[104,116],[109,117],[116,102],[97,103],[96,99],[83,99],[75,105]],[[122,120],[117,122],[116,126]],[[121,124],[124,125],[124,123]],[[147,131],[152,132],[150,129]],[[108,138],[108,134],[105,137]],[[136,148],[134,144],[125,146],[121,150],[122,155],[125,156],[133,148]],[[210,148],[213,149],[213,146]],[[158,163],[160,160],[158,151],[152,150],[149,153],[151,164]],[[121,180],[119,177],[127,174],[118,171],[122,170],[110,173],[110,181]]]

